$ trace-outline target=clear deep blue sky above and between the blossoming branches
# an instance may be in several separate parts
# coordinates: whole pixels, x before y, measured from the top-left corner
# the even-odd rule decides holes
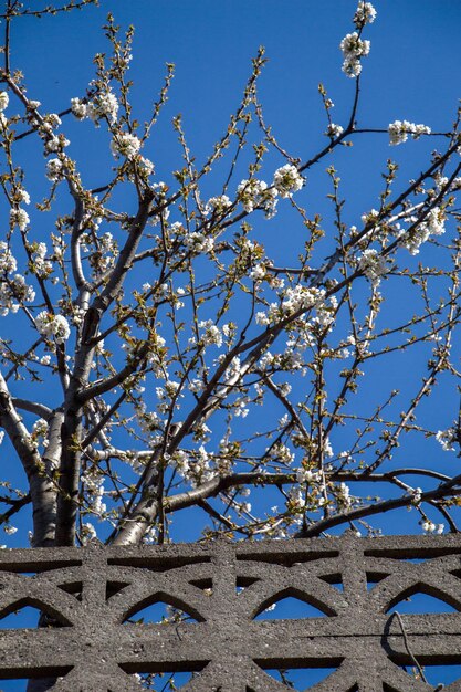
[[[177,76],[168,105],[145,151],[155,161],[158,178],[171,181],[171,170],[181,165],[171,118],[182,114],[190,148],[198,161],[203,160],[238,106],[250,74],[251,57],[262,44],[269,59],[260,81],[265,119],[282,146],[305,160],[326,143],[325,114],[317,92],[319,82],[335,103],[334,120],[342,125],[347,123],[354,81],[340,71],[338,44],[354,29],[355,7],[353,1],[340,0],[103,0],[97,9],[40,21],[15,20],[12,66],[23,72],[29,96],[41,101],[44,112],[60,112],[69,107],[72,97],[85,94],[94,76],[94,54],[108,51],[101,29],[107,12],[111,11],[123,28],[133,23],[136,33],[129,76],[134,82],[134,113],[140,122],[149,116],[163,83],[165,63],[176,64]],[[407,118],[437,132],[449,130],[459,96],[461,4],[391,0],[378,1],[375,7],[377,20],[364,34],[371,41],[371,51],[363,61],[358,126],[386,128],[397,118]],[[107,134],[87,122],[76,123],[71,116],[64,120],[63,130],[71,139],[70,154],[78,162],[84,184],[94,187],[106,182],[104,169],[113,160]],[[381,172],[389,156],[400,165],[398,188],[423,168],[433,146],[433,139],[422,139],[390,148],[386,134],[370,134],[356,137],[353,150],[340,149],[335,155],[335,166],[342,177],[342,195],[347,200],[346,222],[359,224],[360,214],[378,205]],[[40,147],[29,138],[18,150],[29,174],[28,189],[40,198],[45,189]],[[277,165],[281,165],[280,159],[270,154],[264,170],[271,175]],[[327,226],[332,211],[325,198],[331,191],[326,186],[325,166],[310,172],[302,201],[311,216],[323,214]],[[210,196],[217,192],[213,185],[219,179],[219,167],[217,171],[217,178],[211,177],[206,184]],[[128,209],[133,203],[129,199],[124,202]],[[60,203],[69,208],[65,196]],[[50,231],[48,221],[42,218],[40,223],[38,233],[45,235]],[[255,233],[261,234],[268,252],[275,259],[287,263],[296,259],[303,230],[300,224],[291,226],[285,212],[279,213],[270,226],[255,227]],[[326,252],[328,241],[325,242]],[[430,256],[427,260],[429,262]],[[408,310],[417,310],[417,304],[411,303],[409,294],[401,301],[400,289],[394,289],[391,281],[387,286],[394,302],[385,314],[394,326]],[[371,390],[377,386],[388,387],[390,381],[392,387],[411,392],[425,363],[422,350],[412,352],[410,360],[402,363],[390,358],[384,369],[375,368]],[[27,385],[22,387],[24,390]],[[48,390],[46,395],[51,394],[52,390]],[[450,412],[442,406],[448,396]],[[427,411],[436,429],[451,423],[455,413],[453,397],[453,387],[440,388],[436,413],[432,415],[433,409]],[[438,400],[440,406],[437,406]],[[365,405],[358,406],[365,406],[366,410],[366,398],[363,401]],[[451,469],[453,459],[440,455],[436,448],[433,443],[431,453],[437,452],[444,468],[448,464]],[[418,444],[412,448],[410,461],[419,461],[421,451]],[[177,537],[187,535],[182,534],[187,531],[186,514],[178,515]],[[392,522],[387,526],[389,531],[400,530]],[[18,535],[20,541],[23,537]]]

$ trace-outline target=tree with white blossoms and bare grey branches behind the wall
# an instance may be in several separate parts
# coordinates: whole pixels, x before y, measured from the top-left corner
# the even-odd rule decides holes
[[[3,13],[0,426],[4,454],[25,479],[3,482],[6,534],[30,507],[33,546],[163,543],[181,510],[203,538],[374,532],[374,515],[401,508],[427,532],[455,531],[461,475],[427,460],[409,466],[406,453],[415,440],[430,454],[438,447],[455,455],[460,444],[455,410],[443,430],[425,413],[439,379],[455,388],[459,378],[459,118],[442,133],[405,119],[362,128],[365,36],[376,10],[360,0],[340,41],[353,106],[347,122],[334,123],[319,86],[317,153],[286,151],[268,125],[260,49],[243,98],[201,164],[175,118],[184,166],[167,185],[148,150],[174,66],[140,125],[130,106],[132,30],[122,36],[108,18],[112,52],[96,55],[86,93],[62,113],[25,90],[10,40],[18,15],[90,3],[36,10],[9,1]],[[113,167],[98,189],[71,155],[72,118],[109,136]],[[394,147],[431,138],[434,149],[405,184],[398,165],[385,162],[376,209],[350,226],[335,156],[353,157],[369,132]],[[24,138],[40,150],[21,165]],[[270,172],[268,151],[279,159]],[[48,195],[32,205],[28,166],[42,165],[42,154]],[[303,208],[318,168],[332,223]],[[260,232],[284,207],[304,229],[290,266],[271,258]],[[50,216],[54,222],[48,233],[45,213],[46,228]],[[417,296],[407,313],[396,284]],[[406,402],[390,379],[374,389],[389,359],[411,364],[413,350],[425,368]]]

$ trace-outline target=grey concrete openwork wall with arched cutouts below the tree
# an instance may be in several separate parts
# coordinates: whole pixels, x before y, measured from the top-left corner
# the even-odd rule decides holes
[[[388,612],[416,593],[455,612]],[[254,620],[287,596],[327,617]],[[127,621],[159,601],[197,621]],[[312,692],[429,692],[401,665],[461,663],[461,537],[1,551],[0,618],[23,606],[50,625],[0,629],[0,679],[54,692],[136,692],[163,671],[197,671],[182,692],[282,692],[264,669],[310,667],[337,669]]]

